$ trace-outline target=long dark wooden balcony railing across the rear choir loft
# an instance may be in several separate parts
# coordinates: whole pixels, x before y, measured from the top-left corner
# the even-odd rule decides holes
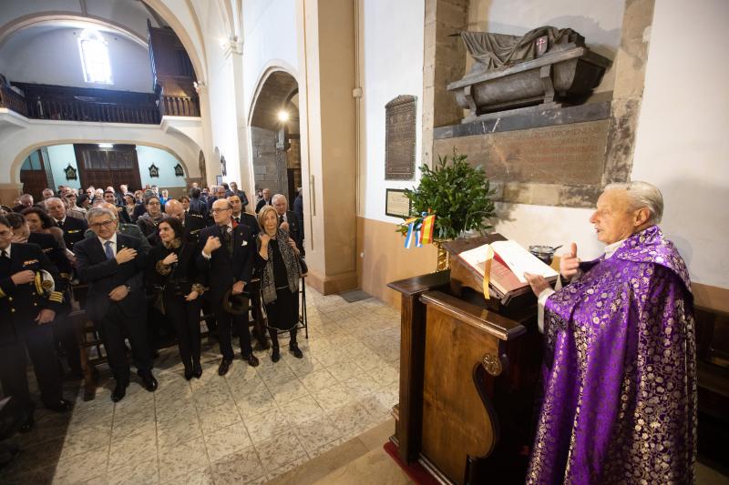
[[[0,106],[37,119],[159,125],[162,116],[200,116],[197,97],[108,89],[13,83],[22,96],[0,84]]]

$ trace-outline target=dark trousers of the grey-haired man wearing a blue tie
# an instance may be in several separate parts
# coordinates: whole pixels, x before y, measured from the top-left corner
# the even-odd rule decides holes
[[[129,364],[127,362],[127,346],[124,338],[129,339],[134,365],[139,372],[152,370],[152,354],[149,351],[147,327],[144,317],[129,318],[112,303],[107,314],[96,322],[104,347],[107,349],[108,367],[114,379],[127,382],[129,380]]]

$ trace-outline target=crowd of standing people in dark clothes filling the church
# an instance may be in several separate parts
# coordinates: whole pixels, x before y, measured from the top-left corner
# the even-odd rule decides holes
[[[289,351],[303,358],[296,339],[306,271],[301,189],[296,212],[268,188],[249,201],[235,182],[192,184],[180,197],[127,185],[61,186],[42,196],[0,207],[0,381],[25,409],[21,431],[35,424],[26,352],[46,409],[71,408],[63,379],[83,377],[69,318],[75,309],[85,310],[103,341],[114,402],[129,385],[128,354],[142,386],[157,389],[154,358],[172,339],[185,379],[200,379],[201,318],[218,340],[221,376],[234,359],[234,337],[253,367],[252,337],[277,362],[279,333],[288,333]]]

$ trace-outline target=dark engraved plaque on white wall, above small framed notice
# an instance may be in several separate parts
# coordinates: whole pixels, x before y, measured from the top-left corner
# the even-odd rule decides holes
[[[416,96],[385,105],[385,180],[412,180],[416,173]]]

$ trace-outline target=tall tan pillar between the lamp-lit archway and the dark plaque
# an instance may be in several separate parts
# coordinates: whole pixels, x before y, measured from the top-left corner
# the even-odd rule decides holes
[[[299,7],[299,110],[308,282],[356,288],[355,8],[353,0]]]

